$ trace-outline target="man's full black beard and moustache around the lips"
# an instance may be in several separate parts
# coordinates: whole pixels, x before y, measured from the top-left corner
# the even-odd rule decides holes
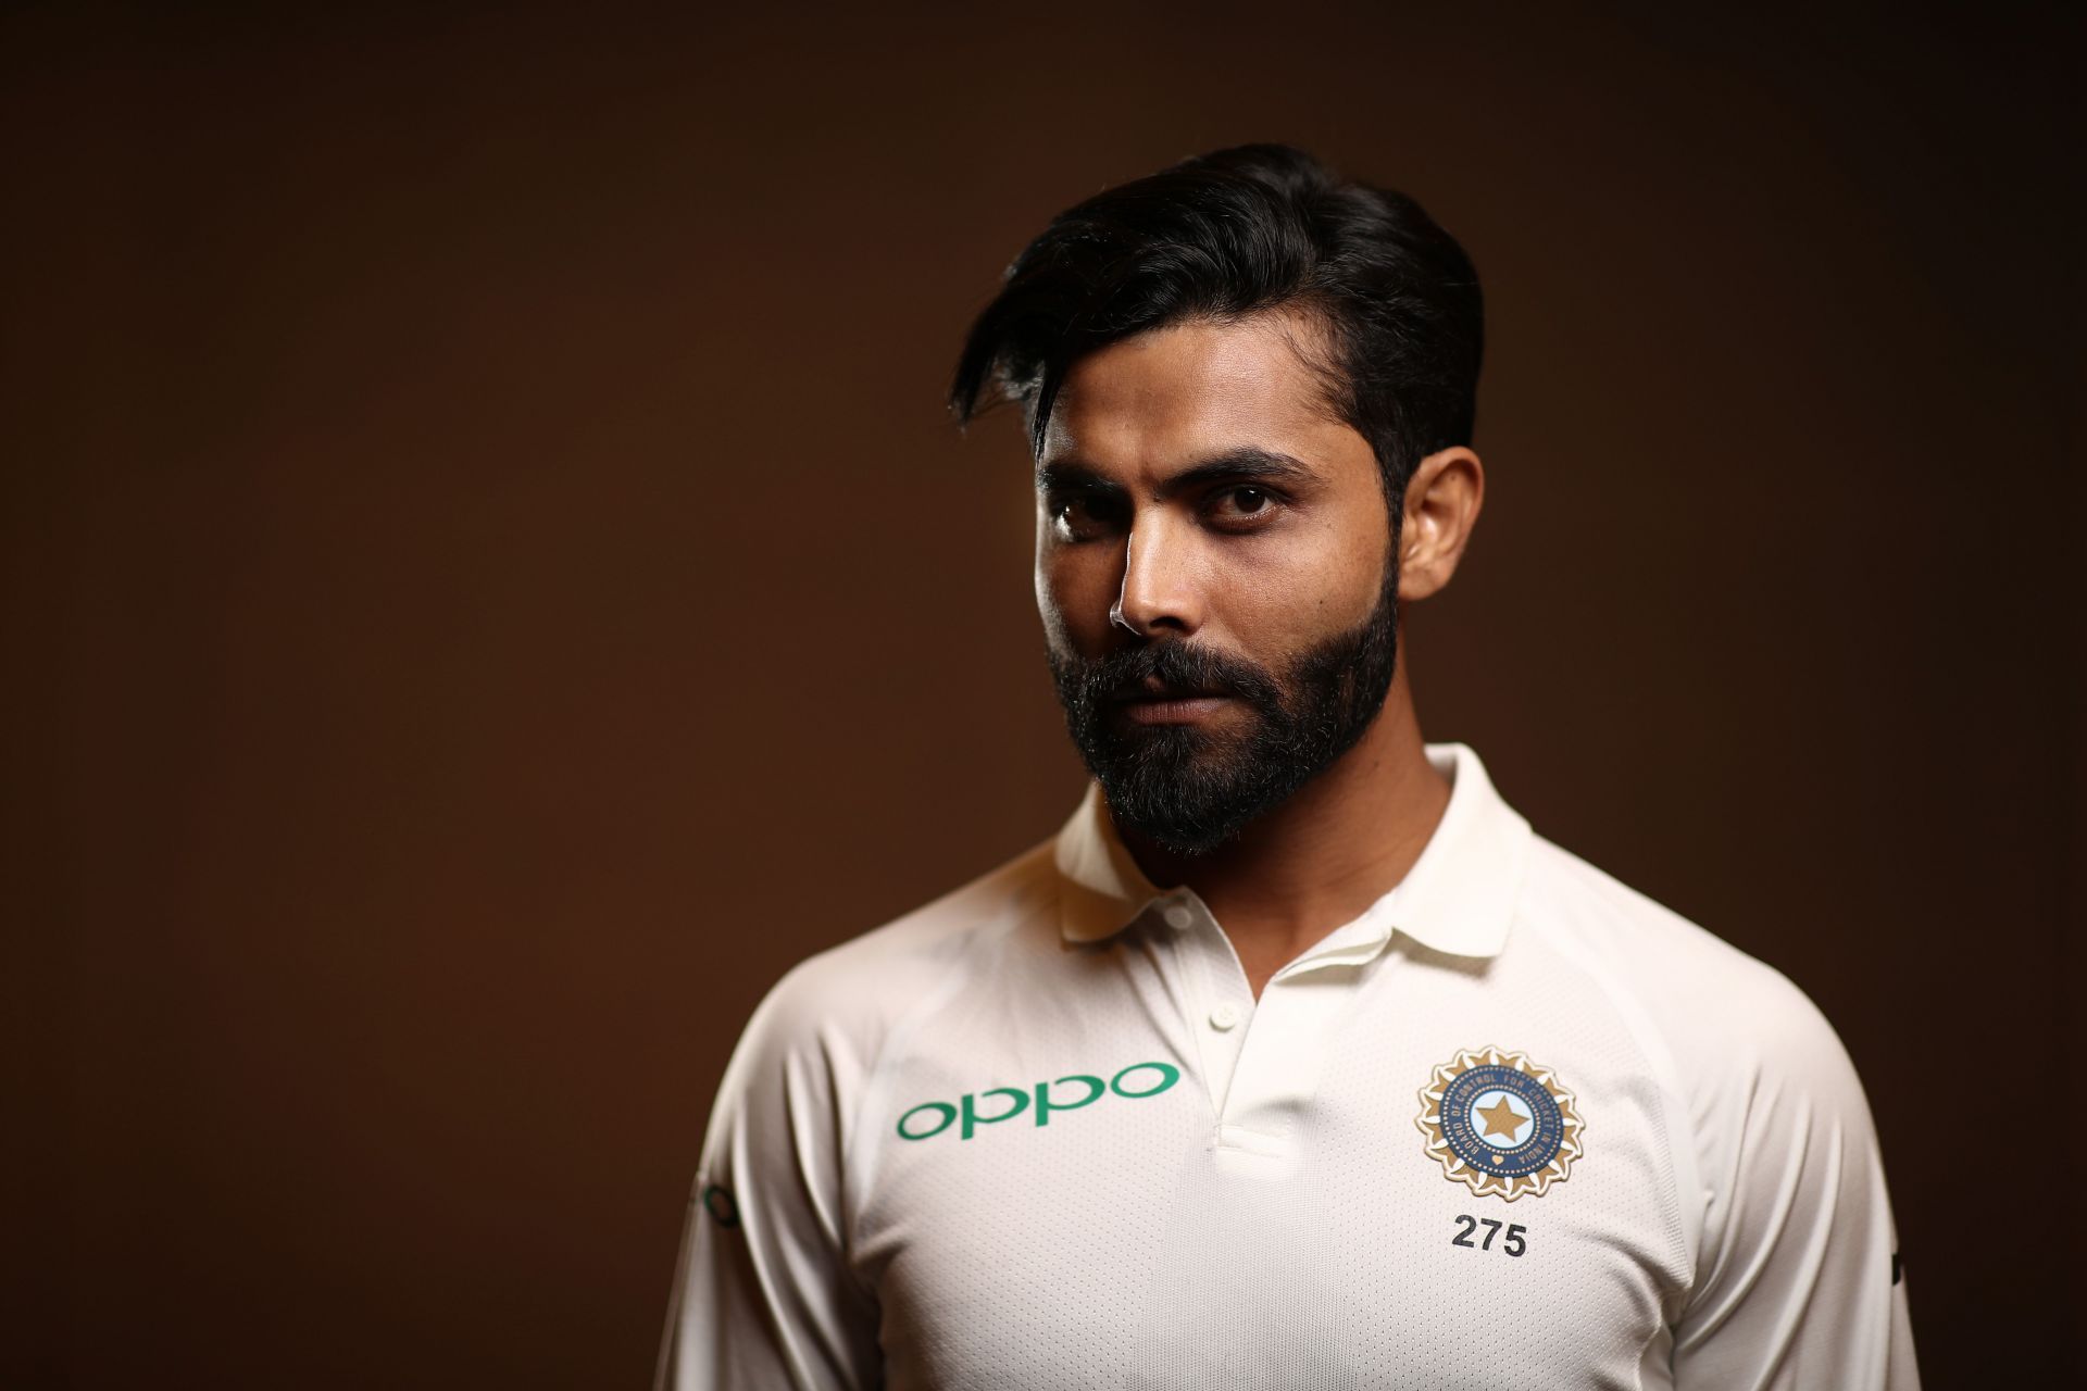
[[[1094,661],[1048,655],[1066,730],[1117,826],[1175,855],[1208,855],[1325,772],[1384,709],[1398,665],[1396,538],[1369,617],[1298,653],[1281,678],[1188,640]],[[1233,697],[1246,730],[1129,719],[1110,697],[1148,676]]]

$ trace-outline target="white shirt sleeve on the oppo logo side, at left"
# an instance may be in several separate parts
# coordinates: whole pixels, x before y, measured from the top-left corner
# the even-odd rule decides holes
[[[806,966],[753,1011],[718,1089],[655,1391],[881,1385],[877,1301],[847,1266],[849,1049]]]

